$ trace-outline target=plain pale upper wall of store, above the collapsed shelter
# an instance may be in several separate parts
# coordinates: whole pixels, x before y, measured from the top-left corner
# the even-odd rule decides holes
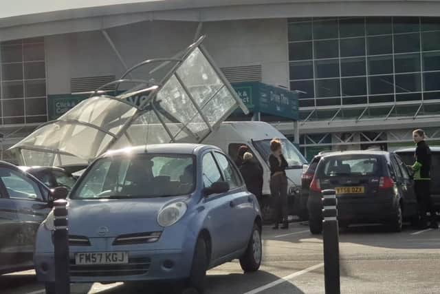
[[[197,23],[145,21],[107,30],[130,67],[170,57],[192,43]],[[203,25],[204,45],[219,67],[261,64],[263,82],[288,86],[287,21],[221,21]],[[45,37],[47,93],[70,93],[70,78],[120,76],[124,67],[101,32]]]

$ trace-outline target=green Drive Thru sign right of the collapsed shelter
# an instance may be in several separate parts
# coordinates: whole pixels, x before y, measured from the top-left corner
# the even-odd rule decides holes
[[[251,111],[298,120],[295,92],[260,82],[233,83],[232,87]]]

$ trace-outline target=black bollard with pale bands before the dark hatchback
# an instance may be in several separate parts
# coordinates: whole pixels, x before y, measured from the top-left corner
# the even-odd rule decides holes
[[[340,294],[338,199],[336,191],[322,191],[322,243],[326,294]]]

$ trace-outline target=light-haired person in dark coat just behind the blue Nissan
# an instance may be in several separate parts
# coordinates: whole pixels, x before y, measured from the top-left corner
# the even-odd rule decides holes
[[[263,190],[263,169],[257,162],[252,161],[252,158],[254,156],[250,152],[243,155],[243,165],[241,165],[240,171],[248,191],[260,200]]]

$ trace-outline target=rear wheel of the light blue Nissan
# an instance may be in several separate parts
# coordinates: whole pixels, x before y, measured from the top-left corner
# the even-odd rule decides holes
[[[261,231],[259,227],[254,224],[252,235],[248,243],[248,248],[240,258],[241,269],[248,273],[250,271],[258,271],[261,265],[261,255],[263,253],[263,246],[261,246]]]

